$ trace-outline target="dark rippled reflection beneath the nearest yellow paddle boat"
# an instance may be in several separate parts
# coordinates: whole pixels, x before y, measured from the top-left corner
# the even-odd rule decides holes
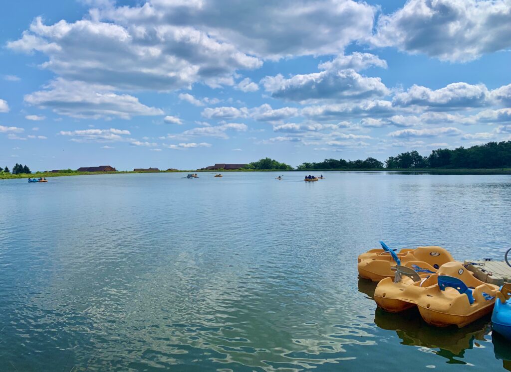
[[[484,336],[490,332],[488,318],[461,329],[431,327],[421,319],[416,308],[400,314],[376,309],[375,324],[381,329],[395,331],[404,345],[440,349],[435,353],[449,360],[463,357],[465,350],[474,347],[475,340],[484,341]]]

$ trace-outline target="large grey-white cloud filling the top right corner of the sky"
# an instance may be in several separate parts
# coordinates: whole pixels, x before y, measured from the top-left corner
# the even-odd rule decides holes
[[[371,41],[444,61],[511,47],[510,0],[409,0],[378,19]]]

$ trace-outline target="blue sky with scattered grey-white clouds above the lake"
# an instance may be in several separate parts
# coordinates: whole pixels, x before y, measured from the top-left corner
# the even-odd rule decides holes
[[[511,0],[3,9],[2,167],[383,161],[511,137]]]

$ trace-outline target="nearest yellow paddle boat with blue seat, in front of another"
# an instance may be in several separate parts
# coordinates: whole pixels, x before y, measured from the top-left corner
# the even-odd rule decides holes
[[[421,279],[416,272],[398,266],[394,282],[383,279],[375,289],[375,301],[390,312],[417,306],[426,323],[464,327],[489,314],[498,287],[476,279],[459,262],[442,265],[437,274]]]

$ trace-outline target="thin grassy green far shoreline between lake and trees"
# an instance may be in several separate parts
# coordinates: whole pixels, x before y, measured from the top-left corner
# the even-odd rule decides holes
[[[511,175],[511,168],[420,168],[420,169],[400,169],[400,168],[378,168],[378,169],[300,169],[300,170],[284,170],[284,169],[233,169],[233,170],[160,170],[157,172],[134,172],[134,171],[116,171],[116,172],[62,172],[62,173],[22,173],[19,175],[0,174],[0,180],[15,180],[28,178],[51,178],[51,177],[68,177],[68,176],[93,176],[93,175],[127,175],[131,173],[225,173],[225,172],[391,172],[403,174],[437,174],[437,175]]]

